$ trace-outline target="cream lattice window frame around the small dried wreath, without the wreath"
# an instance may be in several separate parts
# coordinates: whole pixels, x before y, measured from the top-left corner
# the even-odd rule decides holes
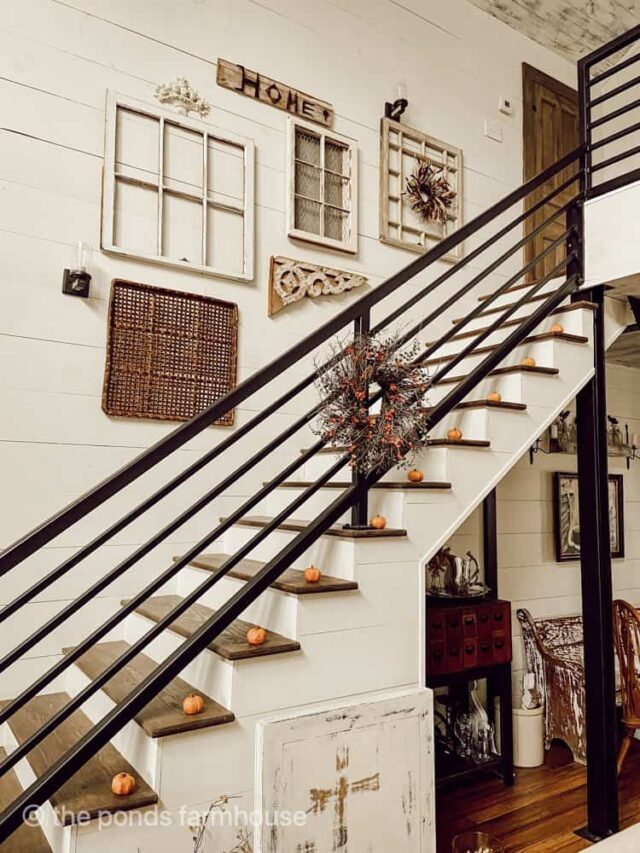
[[[393,134],[397,134],[398,137],[395,144],[391,141]],[[407,149],[405,140],[409,140],[417,150]],[[391,151],[399,152],[397,169],[391,167]],[[431,156],[427,154],[428,151],[432,152]],[[444,167],[443,176],[447,180],[454,178],[452,188],[456,192],[456,198],[446,225],[425,222],[423,228],[417,228],[405,224],[405,212],[410,210],[410,207],[409,202],[403,198],[403,193],[406,189],[406,179],[413,170],[404,168],[403,154],[413,157],[416,165],[421,161],[428,161],[436,167],[442,166]],[[399,121],[383,118],[380,123],[380,242],[422,255],[460,228],[463,222],[462,176],[462,149],[406,124],[401,124]],[[392,180],[397,182],[397,192],[392,192],[390,187]],[[390,215],[391,204],[397,205],[397,217]],[[407,234],[413,235],[415,239],[403,239]],[[443,260],[458,261],[462,256],[463,244],[461,243],[453,251],[444,255]]]

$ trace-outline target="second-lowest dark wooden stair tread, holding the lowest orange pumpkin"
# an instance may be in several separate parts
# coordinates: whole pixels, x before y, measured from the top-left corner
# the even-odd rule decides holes
[[[36,696],[16,711],[9,720],[9,726],[18,742],[24,743],[36,729],[66,705],[70,698],[66,693],[46,693]],[[74,711],[29,752],[27,760],[35,775],[42,776],[92,728],[93,723],[83,711]],[[111,791],[112,778],[121,772],[130,773],[137,780],[135,791],[128,797],[117,797]],[[50,802],[65,825],[69,825],[75,823],[75,815],[79,812],[93,818],[99,812],[140,809],[157,803],[158,795],[115,746],[109,743],[52,794]]]

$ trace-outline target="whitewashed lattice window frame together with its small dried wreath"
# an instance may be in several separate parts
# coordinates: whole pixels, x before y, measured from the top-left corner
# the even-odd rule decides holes
[[[380,240],[422,254],[462,225],[462,150],[384,118],[380,128]],[[460,244],[444,256],[462,257]]]

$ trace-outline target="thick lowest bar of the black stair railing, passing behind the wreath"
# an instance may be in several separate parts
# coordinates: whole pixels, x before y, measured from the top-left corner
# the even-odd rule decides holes
[[[557,294],[554,294],[544,303],[530,318],[528,318],[521,329],[514,332],[503,342],[498,350],[492,353],[485,361],[473,371],[473,374],[460,383],[458,388],[450,392],[431,411],[427,418],[429,424],[434,426],[454,405],[473,387],[471,376],[475,384],[480,381],[493,367],[502,361],[517,344],[527,337],[542,319],[555,305],[575,289],[576,277],[567,280],[565,286]],[[522,330],[522,334],[521,334]],[[456,393],[458,392],[458,393]],[[454,402],[455,401],[455,402]],[[345,459],[346,462],[346,459]],[[336,463],[338,464],[338,463]],[[327,476],[333,476],[335,471]],[[367,477],[367,485],[371,487],[382,476],[380,472]],[[316,486],[320,488],[320,481]],[[0,837],[6,838],[21,822],[38,806],[42,805],[61,785],[63,785],[92,755],[103,746],[126,723],[132,719],[148,702],[179,674],[188,663],[190,663],[200,652],[204,651],[210,642],[225,630],[246,609],[251,601],[264,592],[268,586],[276,580],[280,574],[290,566],[307,547],[316,541],[355,501],[357,488],[349,487],[342,495],[338,496],[320,515],[311,522],[301,533],[299,533],[285,548],[283,548],[263,569],[260,570],[250,581],[248,581],[238,592],[233,595],[216,612],[215,616],[199,628],[178,649],[169,655],[158,667],[145,678],[127,698],[110,711],[91,731],[87,732],[71,750],[62,755],[42,776],[27,788],[5,811],[0,815]],[[200,597],[202,593],[198,593]],[[173,617],[175,618],[175,617]]]

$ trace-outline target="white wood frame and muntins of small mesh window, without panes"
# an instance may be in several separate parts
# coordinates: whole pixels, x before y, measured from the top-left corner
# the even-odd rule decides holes
[[[358,251],[358,146],[355,140],[334,133],[332,130],[319,128],[308,122],[290,116],[288,122],[287,137],[287,162],[288,162],[288,199],[287,199],[287,234],[295,240],[303,240],[307,243],[316,243],[335,249],[340,252],[356,254]],[[320,159],[319,163],[307,162],[297,156],[296,140],[297,134],[315,137],[319,141]],[[343,148],[346,152],[347,167],[342,172],[333,171],[326,165],[327,143]],[[319,172],[319,197],[312,198],[300,192],[298,169],[300,166],[315,169]],[[327,201],[326,186],[327,175],[344,181],[346,206],[340,206]],[[319,208],[319,232],[308,231],[300,228],[296,220],[296,205],[299,201],[306,201],[310,205]],[[345,215],[346,236],[334,239],[326,234],[326,211],[339,211]]]

